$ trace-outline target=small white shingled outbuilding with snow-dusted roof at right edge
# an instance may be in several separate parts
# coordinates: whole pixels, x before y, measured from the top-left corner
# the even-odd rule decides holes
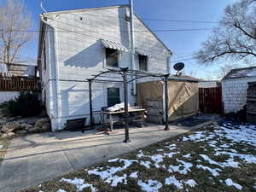
[[[224,113],[236,113],[247,104],[249,82],[256,82],[256,67],[232,69],[222,79]]]

